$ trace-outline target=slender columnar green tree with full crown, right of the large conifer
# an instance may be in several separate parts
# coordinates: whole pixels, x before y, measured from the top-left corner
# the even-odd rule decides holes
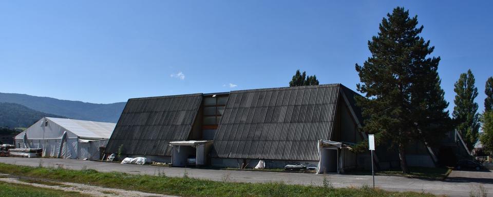
[[[474,102],[478,96],[478,88],[475,86],[476,80],[471,70],[462,73],[459,80],[454,84],[453,91],[457,93],[453,102],[453,119],[457,125],[457,130],[461,133],[467,148],[472,149],[478,141],[479,114],[478,104]]]

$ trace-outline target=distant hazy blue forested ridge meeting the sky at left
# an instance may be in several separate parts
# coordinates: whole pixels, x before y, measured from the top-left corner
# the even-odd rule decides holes
[[[16,103],[36,111],[65,116],[69,119],[110,123],[118,121],[126,104],[125,102],[94,104],[15,93],[0,93],[0,102]]]

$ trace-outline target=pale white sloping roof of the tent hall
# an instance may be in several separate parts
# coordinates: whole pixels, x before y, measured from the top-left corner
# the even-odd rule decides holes
[[[51,120],[79,137],[86,138],[108,139],[116,125],[115,123],[60,119],[58,117],[46,117],[46,119]]]

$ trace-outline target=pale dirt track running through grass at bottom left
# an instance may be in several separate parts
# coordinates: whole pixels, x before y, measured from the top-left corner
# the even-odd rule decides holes
[[[173,195],[163,195],[157,193],[146,193],[140,191],[132,191],[132,190],[123,190],[123,189],[115,189],[115,188],[105,188],[99,186],[92,186],[86,184],[79,183],[69,183],[69,182],[51,182],[51,181],[26,181],[15,177],[10,177],[10,174],[0,174],[2,176],[0,181],[7,183],[15,183],[22,185],[30,185],[33,187],[42,187],[48,189],[58,189],[69,192],[80,192],[82,194],[91,195],[91,196],[124,196],[124,197],[132,197],[132,196],[163,196],[163,197],[178,197]]]

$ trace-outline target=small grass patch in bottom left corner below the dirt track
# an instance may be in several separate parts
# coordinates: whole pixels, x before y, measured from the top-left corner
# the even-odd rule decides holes
[[[51,196],[88,196],[79,192],[66,192],[62,190],[54,190],[40,187],[32,187],[28,185],[20,185],[13,183],[0,182],[0,196],[2,197],[51,197]]]

